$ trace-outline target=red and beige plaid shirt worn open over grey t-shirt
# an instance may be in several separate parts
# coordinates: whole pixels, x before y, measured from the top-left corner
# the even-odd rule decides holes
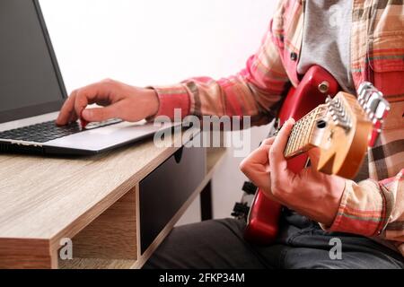
[[[173,109],[182,109],[184,117],[248,115],[255,125],[268,123],[290,83],[300,82],[296,70],[304,2],[280,1],[259,51],[241,73],[154,87],[159,115],[173,117]],[[353,5],[351,71],[356,88],[372,82],[392,109],[379,142],[369,151],[370,178],[358,184],[347,180],[338,215],[324,228],[382,239],[404,255],[404,3],[353,0]]]

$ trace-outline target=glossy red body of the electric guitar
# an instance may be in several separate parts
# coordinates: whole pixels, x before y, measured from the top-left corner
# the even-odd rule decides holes
[[[338,90],[339,85],[331,74],[320,66],[312,66],[302,82],[289,91],[278,116],[279,126],[290,117],[301,119],[323,104],[328,96],[334,97]],[[288,161],[289,169],[297,173],[305,168],[307,161],[306,154],[297,156]],[[273,242],[277,238],[281,211],[281,204],[270,200],[259,190],[251,205],[244,238],[262,245]]]

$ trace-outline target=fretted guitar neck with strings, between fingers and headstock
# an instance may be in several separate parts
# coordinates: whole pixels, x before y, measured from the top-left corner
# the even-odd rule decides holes
[[[295,123],[286,145],[286,159],[291,159],[312,149],[314,130],[324,110],[325,107],[321,105]]]

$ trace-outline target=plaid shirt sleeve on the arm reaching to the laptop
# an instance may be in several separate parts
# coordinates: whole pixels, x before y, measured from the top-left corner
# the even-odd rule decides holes
[[[157,116],[250,116],[254,125],[272,117],[271,108],[282,99],[289,79],[268,29],[259,51],[238,74],[214,80],[196,77],[171,86],[153,86],[160,100]]]

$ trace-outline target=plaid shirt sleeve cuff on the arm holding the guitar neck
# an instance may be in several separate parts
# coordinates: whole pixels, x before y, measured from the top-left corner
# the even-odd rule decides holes
[[[347,181],[337,216],[324,230],[404,242],[404,170],[380,182]]]

